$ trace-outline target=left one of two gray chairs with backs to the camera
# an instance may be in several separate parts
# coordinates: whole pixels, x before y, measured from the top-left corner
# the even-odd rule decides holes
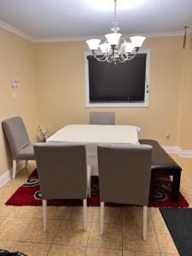
[[[44,231],[46,208],[50,199],[82,199],[84,230],[87,230],[87,195],[90,195],[91,166],[86,164],[83,144],[34,144],[38,177],[43,199]]]

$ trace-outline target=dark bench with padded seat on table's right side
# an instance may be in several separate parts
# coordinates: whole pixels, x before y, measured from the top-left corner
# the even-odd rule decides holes
[[[178,201],[180,178],[182,168],[172,160],[169,154],[161,148],[160,144],[154,140],[139,140],[141,144],[147,144],[153,147],[151,162],[151,184],[158,174],[166,174],[172,176],[172,201]],[[153,189],[153,188],[152,188]]]

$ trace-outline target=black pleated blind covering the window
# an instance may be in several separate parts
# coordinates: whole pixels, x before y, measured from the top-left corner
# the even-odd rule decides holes
[[[87,56],[90,102],[144,102],[147,54],[131,61],[108,63]]]

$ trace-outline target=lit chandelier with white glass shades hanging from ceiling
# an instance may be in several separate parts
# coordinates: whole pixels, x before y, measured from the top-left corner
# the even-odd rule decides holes
[[[104,0],[103,0],[104,1]],[[131,37],[131,42],[126,42],[125,38],[121,37],[119,33],[119,27],[117,26],[117,0],[114,0],[114,19],[113,19],[113,32],[105,35],[105,42],[101,43],[100,39],[87,40],[90,50],[97,61],[108,61],[108,62],[125,62],[131,61],[138,50],[143,44],[144,37],[134,36]],[[101,50],[102,56],[96,56],[97,49]]]

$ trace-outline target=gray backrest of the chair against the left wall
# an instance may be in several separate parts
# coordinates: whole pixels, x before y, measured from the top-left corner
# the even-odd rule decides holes
[[[3,120],[2,125],[14,158],[30,143],[26,126],[19,116]]]

